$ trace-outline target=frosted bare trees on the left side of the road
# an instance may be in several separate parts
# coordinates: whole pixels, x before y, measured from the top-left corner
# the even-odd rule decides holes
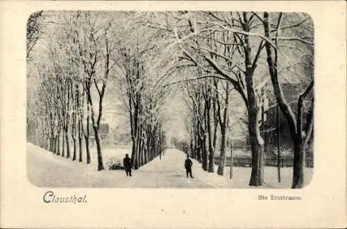
[[[28,133],[38,136],[37,144],[72,160],[78,154],[82,162],[84,138],[89,164],[93,131],[98,171],[104,169],[99,135],[103,101],[113,79],[120,82],[119,88],[126,88],[121,96],[130,118],[135,169],[161,155],[165,142],[160,112],[155,109],[168,90],[148,87],[149,63],[141,56],[147,51],[140,46],[130,51],[133,46],[126,44],[126,38],[115,36],[121,26],[112,16],[105,12],[46,12],[55,23],[46,26],[49,40],[33,54],[37,61],[31,72],[35,91],[28,95]]]

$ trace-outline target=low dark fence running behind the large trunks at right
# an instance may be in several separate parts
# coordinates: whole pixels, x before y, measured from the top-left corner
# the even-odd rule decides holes
[[[219,164],[219,158],[214,158],[214,164]],[[277,158],[268,158],[264,162],[265,166],[269,167],[277,167],[278,160]],[[246,157],[235,157],[232,158],[232,166],[235,167],[251,167],[252,159]],[[226,158],[226,167],[230,167],[230,157]],[[313,158],[306,158],[305,166],[309,168],[313,168]],[[281,158],[280,159],[280,167],[293,167],[293,159],[292,158]]]

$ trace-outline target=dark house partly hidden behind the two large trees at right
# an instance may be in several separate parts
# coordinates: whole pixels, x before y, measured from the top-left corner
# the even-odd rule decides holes
[[[296,115],[298,97],[302,93],[302,90],[298,89],[295,85],[284,83],[282,84],[282,92],[285,96],[285,99],[287,100],[287,103],[289,103],[291,109]],[[310,94],[307,95],[305,101],[311,101],[313,95],[314,95],[314,92],[312,90]],[[277,146],[277,142],[278,142],[277,107],[278,105],[277,105],[276,99],[274,97],[269,98],[269,108],[264,110],[264,116],[266,118],[264,119],[264,133],[262,135],[264,137],[265,151],[269,151],[273,147]],[[282,147],[282,149],[289,149],[290,146],[292,146],[291,136],[289,133],[289,126],[287,124],[287,119],[285,119],[285,116],[282,114],[282,111],[280,109],[279,111],[280,111],[280,146]],[[305,118],[305,114],[306,113],[304,113],[304,118]]]

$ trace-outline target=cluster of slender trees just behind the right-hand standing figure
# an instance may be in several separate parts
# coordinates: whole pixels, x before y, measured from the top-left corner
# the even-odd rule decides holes
[[[231,85],[226,80],[204,78],[203,82],[186,82],[185,89],[185,104],[189,111],[186,127],[190,139],[185,143],[181,142],[183,149],[201,162],[203,170],[213,173],[217,141],[220,141],[221,160],[217,173],[223,175],[230,124]]]

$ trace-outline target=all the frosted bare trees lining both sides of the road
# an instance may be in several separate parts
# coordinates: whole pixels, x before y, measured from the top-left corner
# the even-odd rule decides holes
[[[306,99],[314,83],[313,24],[308,15],[188,11],[52,15],[59,22],[50,33],[56,39],[47,42],[44,53],[50,53],[49,58],[39,57],[44,61],[38,69],[40,77],[54,78],[56,84],[40,82],[40,98],[50,99],[46,99],[47,104],[43,103],[45,99],[38,101],[40,109],[46,111],[36,115],[45,120],[46,133],[53,130],[50,139],[55,139],[61,129],[68,146],[68,133],[74,136],[72,139],[79,139],[84,130],[88,135],[87,122],[91,121],[98,169],[103,169],[99,126],[106,85],[111,87],[110,82],[115,80],[117,87],[111,90],[128,112],[132,158],[135,167],[139,167],[153,158],[153,147],[159,145],[162,149],[165,120],[160,109],[170,94],[170,85],[178,83],[187,96],[190,152],[201,160],[203,169],[213,172],[214,151],[220,139],[222,160],[218,173],[223,174],[229,106],[236,104],[230,100],[230,92],[235,91],[247,111],[252,153],[249,185],[259,186],[264,178],[261,111],[264,94],[273,94],[285,114],[293,142],[292,187],[303,186],[314,104],[313,99]],[[171,78],[176,80],[164,83]],[[282,92],[281,84],[286,80],[303,87],[297,112]],[[55,105],[57,111],[50,114]],[[52,125],[56,127],[49,127]]]

